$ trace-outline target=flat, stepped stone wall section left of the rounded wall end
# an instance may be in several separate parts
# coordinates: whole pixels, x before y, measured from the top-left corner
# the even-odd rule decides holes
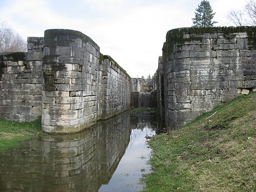
[[[28,52],[0,53],[0,119],[41,117],[42,37],[28,37]]]

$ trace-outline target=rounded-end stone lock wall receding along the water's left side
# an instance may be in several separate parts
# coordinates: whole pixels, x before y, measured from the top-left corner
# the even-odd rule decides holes
[[[130,76],[73,30],[45,31],[42,129],[71,133],[130,107]]]

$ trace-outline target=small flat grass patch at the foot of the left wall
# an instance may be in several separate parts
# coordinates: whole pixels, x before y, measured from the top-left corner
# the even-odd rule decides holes
[[[41,134],[41,119],[29,123],[0,120],[0,151],[18,146],[19,141]]]

